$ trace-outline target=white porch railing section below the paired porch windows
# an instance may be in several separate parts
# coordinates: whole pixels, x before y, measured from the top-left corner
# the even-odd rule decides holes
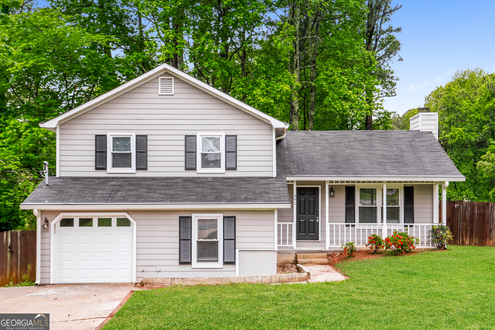
[[[355,246],[365,246],[368,236],[377,234],[383,238],[391,236],[394,231],[407,232],[410,236],[419,238],[417,247],[433,247],[428,241],[428,232],[433,224],[343,224],[331,223],[329,230],[329,247],[341,247],[342,244],[353,242]],[[384,232],[385,231],[385,232]]]

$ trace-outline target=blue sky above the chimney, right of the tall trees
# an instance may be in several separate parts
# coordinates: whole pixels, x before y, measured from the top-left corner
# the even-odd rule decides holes
[[[494,0],[403,0],[392,17],[404,59],[392,63],[399,77],[397,96],[385,109],[399,114],[423,106],[424,98],[451,80],[457,70],[495,72]]]

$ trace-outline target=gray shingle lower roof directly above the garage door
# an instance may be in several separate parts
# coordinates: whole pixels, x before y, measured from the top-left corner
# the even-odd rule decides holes
[[[50,177],[22,205],[290,203],[285,177]]]

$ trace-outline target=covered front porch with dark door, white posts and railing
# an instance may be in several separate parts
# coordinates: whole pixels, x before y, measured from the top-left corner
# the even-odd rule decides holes
[[[278,210],[277,249],[336,252],[347,242],[367,249],[368,236],[386,238],[394,231],[418,238],[418,250],[434,248],[428,232],[445,223],[444,214],[439,221],[440,185],[445,200],[448,182],[440,181],[288,181],[293,203]]]

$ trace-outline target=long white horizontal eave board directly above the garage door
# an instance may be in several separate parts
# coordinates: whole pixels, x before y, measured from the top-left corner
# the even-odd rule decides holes
[[[257,209],[291,208],[290,203],[280,204],[39,204],[20,205],[21,210],[186,210],[186,209]]]

